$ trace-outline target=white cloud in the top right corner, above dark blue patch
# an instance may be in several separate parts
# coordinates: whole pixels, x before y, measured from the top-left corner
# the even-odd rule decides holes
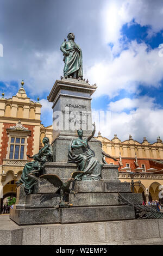
[[[118,52],[124,24],[131,25],[135,20],[141,26],[149,26],[148,36],[152,36],[163,29],[162,17],[162,0],[111,0],[102,11],[103,37],[106,43],[113,42],[113,51]]]

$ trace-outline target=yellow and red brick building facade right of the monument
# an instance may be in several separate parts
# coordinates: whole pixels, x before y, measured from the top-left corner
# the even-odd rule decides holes
[[[134,172],[134,192],[142,193],[144,200],[159,200],[163,187],[163,143],[160,137],[153,144],[146,137],[142,143],[134,141],[131,135],[123,142],[117,135],[109,140],[100,132],[96,138],[102,142],[103,150],[118,160],[106,158],[109,164],[119,165],[121,182],[131,182],[130,173]]]

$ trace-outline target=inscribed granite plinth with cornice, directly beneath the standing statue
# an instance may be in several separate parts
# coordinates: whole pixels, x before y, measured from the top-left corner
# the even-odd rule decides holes
[[[48,96],[53,102],[53,138],[59,135],[75,136],[82,129],[92,132],[91,94],[97,87],[85,81],[67,78],[57,80]]]

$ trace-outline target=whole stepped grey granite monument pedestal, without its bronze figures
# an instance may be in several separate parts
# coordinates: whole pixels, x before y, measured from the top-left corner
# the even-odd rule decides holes
[[[68,163],[68,148],[77,130],[83,137],[92,134],[91,95],[96,90],[85,81],[67,78],[56,81],[48,100],[53,102],[53,162],[44,164],[42,174],[55,174],[65,182],[76,172],[77,164]],[[102,144],[89,141],[95,158],[103,163]],[[98,163],[99,164],[99,163]],[[85,223],[135,219],[133,206],[118,201],[118,193],[138,204],[142,195],[131,193],[130,184],[118,180],[118,165],[103,164],[101,180],[76,181],[76,194],[65,194],[69,208],[59,208],[60,191],[45,179],[38,179],[33,194],[25,196],[18,188],[17,202],[10,211],[11,220],[18,225]]]

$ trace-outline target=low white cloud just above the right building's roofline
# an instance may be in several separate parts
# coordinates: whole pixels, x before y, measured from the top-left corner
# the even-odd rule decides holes
[[[133,139],[142,142],[143,137],[146,136],[148,141],[153,143],[156,141],[158,135],[163,139],[163,109],[154,103],[154,98],[140,97],[132,100],[122,99],[109,104],[111,111],[110,120],[108,120],[109,130],[107,127],[101,127],[102,136],[113,138],[116,133],[121,141],[128,139],[129,134]],[[129,113],[124,112],[125,106],[122,102],[127,101],[127,108],[130,109]],[[136,107],[136,110],[133,108]],[[120,108],[122,111],[120,112]]]

